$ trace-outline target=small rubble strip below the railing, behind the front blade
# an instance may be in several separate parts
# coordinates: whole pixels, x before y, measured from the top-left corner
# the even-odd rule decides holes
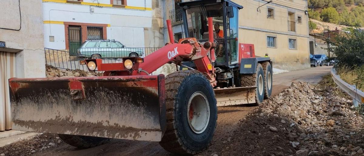
[[[58,69],[51,65],[46,65],[46,77],[94,77],[102,76],[100,72],[86,72],[80,69]]]

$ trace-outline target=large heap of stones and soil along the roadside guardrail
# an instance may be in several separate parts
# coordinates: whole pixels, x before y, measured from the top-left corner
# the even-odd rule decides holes
[[[222,149],[209,154],[364,155],[363,118],[335,89],[292,83],[243,119]]]

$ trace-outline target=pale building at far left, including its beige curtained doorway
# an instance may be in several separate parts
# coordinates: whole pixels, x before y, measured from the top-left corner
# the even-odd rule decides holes
[[[45,77],[40,0],[2,0],[0,5],[0,131],[11,129],[8,79]]]

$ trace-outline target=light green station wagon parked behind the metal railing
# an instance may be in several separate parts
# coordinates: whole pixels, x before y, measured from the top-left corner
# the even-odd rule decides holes
[[[115,40],[86,40],[80,48],[80,57],[101,59],[143,56],[143,48],[128,48]]]

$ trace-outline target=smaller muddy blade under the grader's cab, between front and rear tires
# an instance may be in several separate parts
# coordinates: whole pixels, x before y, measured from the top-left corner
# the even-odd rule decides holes
[[[217,106],[256,103],[256,86],[214,89]]]

